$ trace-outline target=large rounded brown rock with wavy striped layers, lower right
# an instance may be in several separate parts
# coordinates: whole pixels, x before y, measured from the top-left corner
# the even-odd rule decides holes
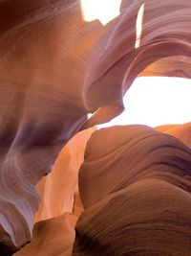
[[[143,126],[96,131],[79,191],[74,256],[191,254],[191,150],[175,137]]]

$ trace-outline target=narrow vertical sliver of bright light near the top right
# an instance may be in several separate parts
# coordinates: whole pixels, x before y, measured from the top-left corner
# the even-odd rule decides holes
[[[141,5],[141,7],[138,10],[138,18],[136,21],[136,44],[135,47],[138,48],[140,45],[140,38],[142,35],[142,21],[144,16],[144,4]]]

